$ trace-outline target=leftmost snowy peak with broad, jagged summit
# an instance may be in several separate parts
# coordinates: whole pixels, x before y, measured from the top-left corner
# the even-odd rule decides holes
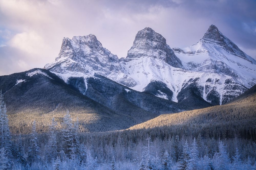
[[[103,48],[93,34],[64,38],[55,62],[44,68],[57,74],[65,82],[70,77],[86,78],[97,73],[125,86],[135,85],[134,80],[120,65],[118,57]]]

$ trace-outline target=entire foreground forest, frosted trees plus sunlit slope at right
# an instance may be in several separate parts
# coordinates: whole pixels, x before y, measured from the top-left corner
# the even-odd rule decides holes
[[[81,133],[79,122],[68,112],[59,127],[52,119],[48,133],[37,133],[34,121],[31,134],[11,135],[1,95],[0,167],[255,169],[255,87],[222,106],[161,115],[127,130],[100,133]]]

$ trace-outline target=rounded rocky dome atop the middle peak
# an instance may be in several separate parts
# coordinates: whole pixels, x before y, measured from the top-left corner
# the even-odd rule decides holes
[[[126,58],[141,57],[157,58],[173,67],[183,68],[180,59],[175,56],[173,50],[166,44],[166,39],[149,27],[136,34]]]

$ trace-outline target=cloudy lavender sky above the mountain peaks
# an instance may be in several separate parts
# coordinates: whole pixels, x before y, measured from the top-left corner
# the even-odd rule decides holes
[[[170,47],[196,43],[211,24],[256,59],[255,0],[0,0],[0,75],[43,68],[63,37],[96,35],[126,57],[151,27]]]

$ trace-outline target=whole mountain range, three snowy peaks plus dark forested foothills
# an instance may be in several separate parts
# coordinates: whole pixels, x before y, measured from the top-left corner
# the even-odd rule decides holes
[[[229,104],[256,83],[256,61],[214,25],[183,49],[145,28],[120,59],[95,35],[64,38],[45,68],[0,76],[13,133],[29,133],[33,120],[47,131],[53,117],[60,126],[67,110],[83,132],[127,129],[160,114]]]

